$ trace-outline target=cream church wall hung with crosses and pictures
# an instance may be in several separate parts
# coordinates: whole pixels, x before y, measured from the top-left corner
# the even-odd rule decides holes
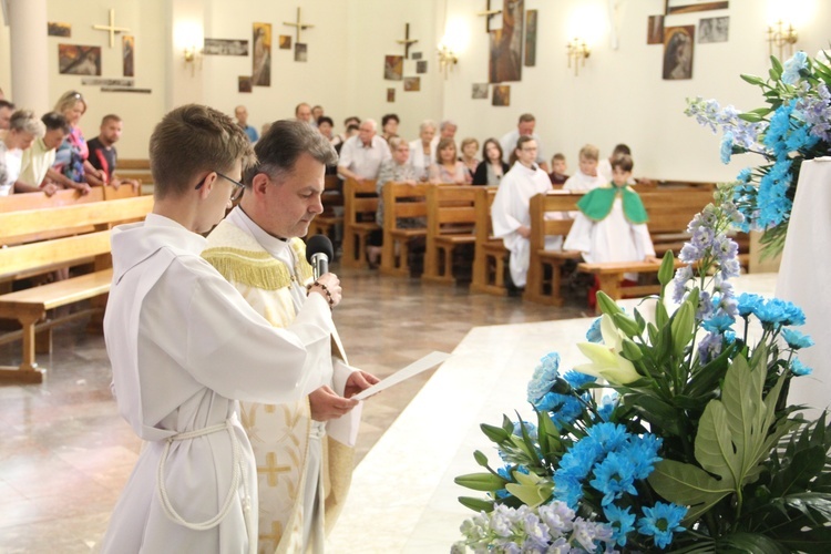
[[[611,3],[619,6],[619,47],[609,45]],[[294,21],[298,3],[304,20],[315,24],[304,32],[308,43],[307,63],[294,62],[294,50],[279,50],[276,37],[293,34],[284,21]],[[496,3],[496,2],[493,2]],[[119,145],[122,157],[146,157],[153,126],[173,105],[204,102],[230,113],[246,104],[250,123],[290,117],[294,106],[306,101],[321,104],[335,119],[338,130],[347,115],[379,119],[394,112],[401,117],[400,134],[414,138],[423,119],[453,119],[458,137],[499,136],[513,129],[520,113],[537,117],[545,154],[562,151],[570,167],[576,166],[578,148],[596,144],[607,155],[614,144],[633,148],[637,175],[656,178],[727,179],[745,164],[719,162],[718,137],[684,115],[686,96],[716,98],[722,104],[753,109],[761,95],[739,79],[740,73],[766,74],[768,69],[767,1],[730,0],[728,10],[670,16],[667,25],[698,24],[708,17],[730,17],[730,40],[695,47],[693,79],[661,80],[663,47],[646,44],[647,17],[661,13],[665,0],[525,0],[525,9],[538,10],[536,66],[523,68],[522,81],[511,85],[511,106],[495,107],[489,100],[471,100],[472,83],[488,79],[488,35],[476,12],[479,0],[48,0],[49,19],[72,24],[72,38],[37,37],[49,41],[49,83],[52,101],[68,89],[78,89],[89,100],[90,111],[82,120],[88,136],[94,136],[106,113],[125,120]],[[810,54],[828,47],[831,2],[790,0],[798,22],[798,47]],[[447,8],[445,8],[447,7]],[[136,38],[135,84],[152,94],[102,93],[82,86],[81,78],[58,74],[59,42],[101,44],[103,75],[120,78],[121,45],[112,51],[107,37],[93,31],[92,23],[104,23],[107,10],[115,8],[116,23],[126,25]],[[444,17],[450,38],[461,43],[460,61],[447,80],[439,73],[437,44],[444,34]],[[591,28],[599,38],[592,44],[592,57],[579,76],[566,68],[565,44],[572,38],[575,17],[594,9]],[[211,38],[247,39],[253,22],[273,25],[271,86],[255,88],[250,94],[237,92],[237,76],[249,74],[249,57],[205,57],[194,76],[185,70],[175,37],[176,25],[193,19]],[[423,53],[429,71],[421,76],[420,92],[404,92],[402,82],[383,80],[383,57],[399,54],[396,40],[403,37],[404,23],[419,39],[412,51]],[[9,91],[9,32],[0,28],[0,86]],[[406,63],[404,75],[416,75],[414,61]],[[387,89],[396,89],[396,102],[387,103]],[[19,103],[24,105],[24,102]]]

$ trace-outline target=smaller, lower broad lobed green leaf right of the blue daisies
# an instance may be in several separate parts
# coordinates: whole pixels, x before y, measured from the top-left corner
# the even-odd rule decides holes
[[[732,481],[719,481],[700,468],[661,460],[648,478],[655,492],[669,502],[689,506],[684,521],[696,521],[714,504],[733,492]]]

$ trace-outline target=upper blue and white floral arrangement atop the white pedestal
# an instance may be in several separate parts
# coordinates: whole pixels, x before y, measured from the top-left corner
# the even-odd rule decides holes
[[[812,59],[800,51],[784,65],[774,57],[770,60],[767,80],[741,75],[761,89],[767,106],[740,113],[697,98],[687,99],[685,112],[714,133],[721,127],[725,164],[746,152],[765,158],[762,165],[738,174],[733,198],[745,215],[739,228],[765,232],[765,255],[776,255],[784,246],[802,161],[831,154],[831,57],[823,51]]]

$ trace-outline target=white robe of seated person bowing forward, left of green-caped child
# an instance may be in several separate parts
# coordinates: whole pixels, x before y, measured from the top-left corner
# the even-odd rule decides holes
[[[536,165],[526,167],[516,162],[509,171],[496,191],[491,206],[493,234],[502,238],[505,248],[511,253],[509,268],[511,280],[517,287],[524,287],[529,273],[531,243],[520,235],[520,226],[531,227],[531,197],[551,191],[548,174]],[[563,242],[561,236],[545,237],[545,249],[558,249]]]

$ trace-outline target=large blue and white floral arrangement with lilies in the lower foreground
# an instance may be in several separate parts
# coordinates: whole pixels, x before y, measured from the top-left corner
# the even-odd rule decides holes
[[[654,321],[599,294],[588,361],[563,371],[550,353],[527,387],[535,420],[481,425],[501,464],[476,451],[484,471],[456,478],[484,497],[460,497],[479,514],[453,552],[829,551],[831,424],[787,402],[813,342],[798,307],[733,294],[737,186],[690,222],[686,266],[664,258]]]

